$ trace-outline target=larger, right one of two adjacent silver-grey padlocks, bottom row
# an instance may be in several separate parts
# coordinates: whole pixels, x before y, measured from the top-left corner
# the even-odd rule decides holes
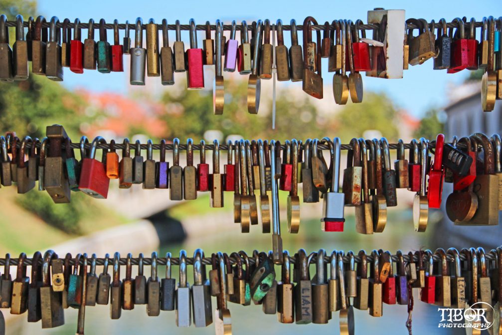
[[[193,323],[196,327],[207,327],[213,322],[209,281],[206,266],[202,264],[204,252],[196,249],[193,255],[193,285],[191,288]]]

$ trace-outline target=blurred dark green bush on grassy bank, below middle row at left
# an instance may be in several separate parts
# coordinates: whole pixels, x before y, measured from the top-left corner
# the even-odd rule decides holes
[[[45,192],[44,192],[45,193]],[[22,197],[16,198],[16,203],[38,215],[47,224],[61,229],[70,234],[79,234],[78,225],[84,210],[94,207],[89,204],[89,199],[83,194],[72,192],[69,204],[55,204],[47,194],[38,190],[31,190]]]

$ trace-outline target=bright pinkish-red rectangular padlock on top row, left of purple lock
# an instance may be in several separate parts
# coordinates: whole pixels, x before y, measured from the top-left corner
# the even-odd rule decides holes
[[[187,86],[189,90],[204,88],[204,51],[197,48],[197,30],[195,21],[190,19],[190,49],[186,51],[188,71]]]

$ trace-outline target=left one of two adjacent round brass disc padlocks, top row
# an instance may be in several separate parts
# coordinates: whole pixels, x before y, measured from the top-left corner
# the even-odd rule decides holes
[[[333,75],[333,97],[335,99],[335,103],[338,105],[345,105],[348,101],[349,96],[349,88],[348,88],[348,76],[345,74],[346,71],[346,58],[345,53],[348,51],[347,45],[347,34],[346,34],[346,25],[343,20],[338,20],[337,27],[340,27],[340,35],[341,38],[338,37],[337,43],[338,47],[334,47],[332,49],[337,50],[336,58],[340,58],[340,70],[336,71]],[[337,45],[338,45],[337,44]],[[338,49],[340,49],[338,52]],[[331,58],[330,58],[331,59]],[[329,63],[328,63],[329,66]],[[337,65],[338,66],[338,65]],[[329,71],[329,68],[328,68]]]

